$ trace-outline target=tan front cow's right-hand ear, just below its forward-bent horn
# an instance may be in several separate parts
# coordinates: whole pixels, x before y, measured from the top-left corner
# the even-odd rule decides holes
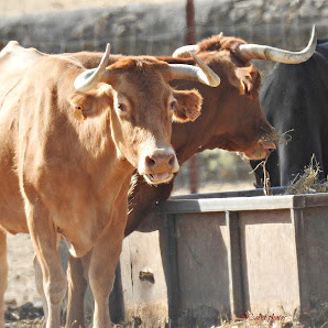
[[[177,100],[173,113],[176,122],[194,122],[201,112],[203,97],[196,90],[174,90],[174,98]]]

